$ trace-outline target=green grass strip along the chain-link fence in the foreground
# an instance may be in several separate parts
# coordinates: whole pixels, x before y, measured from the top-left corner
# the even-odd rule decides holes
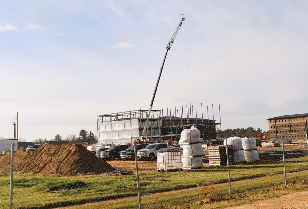
[[[287,175],[289,182],[292,181],[291,178],[295,179],[297,182],[308,179],[308,171],[306,172],[306,170],[308,170],[308,157],[296,158],[295,160],[288,159],[286,165],[287,172],[291,173]],[[270,191],[275,187],[284,187],[284,175],[282,174],[282,161],[232,165],[230,167],[230,176],[233,182],[232,193],[234,195],[246,195],[249,197],[249,194],[260,193],[260,190],[266,193],[266,191]],[[205,202],[206,199],[209,198],[209,195],[208,197],[203,197],[204,195],[200,193],[200,188],[206,187],[197,188],[197,185],[202,186],[211,182],[215,182],[215,184],[218,185],[217,191],[219,191],[218,193],[220,194],[219,198],[226,199],[229,196],[226,166],[182,172],[142,173],[139,177],[141,195],[143,195],[143,208],[159,208],[161,206],[172,208],[172,205],[198,208],[194,205],[196,205],[198,201]],[[272,180],[273,178],[277,178],[277,180]],[[254,180],[247,181],[245,179]],[[15,173],[13,186],[13,203],[16,209],[60,207],[103,200],[113,200],[112,202],[116,203],[120,202],[117,207],[107,205],[106,208],[138,207],[138,199],[136,198],[136,175],[85,178]],[[296,185],[292,187],[293,189],[298,189]],[[304,187],[306,188],[306,186]],[[184,190],[188,188],[191,189],[189,191]],[[0,189],[2,191],[0,194],[0,209],[7,208],[9,205],[10,175],[3,172],[0,173]],[[166,191],[175,191],[175,193],[173,195],[157,194]],[[269,192],[269,194],[270,193],[271,192]],[[153,194],[153,198],[151,194]],[[193,197],[192,194],[194,194]],[[145,198],[144,195],[150,195],[151,197]],[[124,197],[132,198],[130,200],[116,200]],[[218,196],[215,198],[217,199]],[[148,199],[151,199],[152,203],[155,203],[157,207],[154,207]],[[156,199],[160,200],[160,202],[156,201]],[[164,199],[168,199],[168,202]],[[240,198],[241,201],[242,199],[243,198]],[[131,202],[130,204],[132,207],[128,206],[129,202]],[[207,203],[202,206],[212,204],[213,203]],[[215,205],[216,204],[217,203],[215,203]],[[221,202],[219,202],[219,204],[221,204]]]

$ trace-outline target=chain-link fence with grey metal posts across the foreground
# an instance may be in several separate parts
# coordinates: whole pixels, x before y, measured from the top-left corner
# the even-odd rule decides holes
[[[178,142],[97,153],[80,144],[13,145],[12,173],[12,145],[0,144],[0,208],[223,208],[307,188],[305,142],[230,137],[207,146],[198,130],[184,131]]]

